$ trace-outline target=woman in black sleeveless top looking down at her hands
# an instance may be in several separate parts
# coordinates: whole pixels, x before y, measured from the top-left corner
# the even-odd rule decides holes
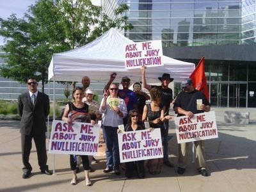
[[[150,97],[151,97],[151,102],[150,104],[147,104],[144,106],[143,109],[143,115],[142,115],[142,121],[146,121],[148,119],[148,123],[150,127],[155,128],[155,129],[161,129],[161,136],[162,136],[162,141],[163,141],[163,133],[162,131],[164,130],[163,127],[163,122],[166,120],[170,120],[171,116],[167,115],[164,116],[164,111],[165,111],[165,106],[161,106],[161,92],[157,88],[152,88],[150,90]],[[163,158],[157,159],[157,167],[156,170],[153,170],[153,159],[149,159],[147,162],[147,168],[148,172],[152,175],[157,175],[161,173],[161,166],[163,164]]]

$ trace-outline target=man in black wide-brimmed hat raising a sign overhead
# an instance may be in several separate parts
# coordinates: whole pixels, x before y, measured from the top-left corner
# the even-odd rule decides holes
[[[145,67],[145,66],[141,67],[142,85],[148,91],[154,87],[158,88],[161,91],[161,105],[165,106],[165,108],[166,108],[166,112],[164,113],[164,116],[169,115],[169,109],[170,109],[170,104],[173,100],[173,95],[172,95],[172,89],[168,88],[168,85],[173,81],[173,78],[170,77],[170,74],[163,74],[162,77],[158,77],[158,79],[161,81],[160,86],[147,84],[146,77],[145,77],[146,68],[147,67]],[[169,131],[169,121],[166,121],[166,122],[164,122],[164,133],[163,133],[163,146],[164,146],[163,163],[166,166],[173,167],[173,164],[170,163],[169,156],[168,156],[168,154],[169,154],[168,153],[168,131]]]

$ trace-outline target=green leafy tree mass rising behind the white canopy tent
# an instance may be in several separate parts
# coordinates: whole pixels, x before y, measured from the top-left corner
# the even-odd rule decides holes
[[[102,15],[100,6],[90,0],[38,0],[22,19],[11,15],[0,18],[0,35],[6,38],[3,47],[7,65],[0,75],[24,83],[33,76],[47,83],[47,70],[54,52],[63,52],[91,42],[111,27],[131,29],[123,14],[124,4],[115,11],[115,19]],[[94,26],[94,28],[93,28]]]

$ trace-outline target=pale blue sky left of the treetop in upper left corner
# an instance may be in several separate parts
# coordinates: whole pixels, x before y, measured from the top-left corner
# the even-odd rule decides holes
[[[12,13],[16,17],[22,18],[28,10],[28,6],[34,4],[35,0],[0,0],[0,17],[7,19]],[[4,39],[0,36],[0,45],[4,44]]]

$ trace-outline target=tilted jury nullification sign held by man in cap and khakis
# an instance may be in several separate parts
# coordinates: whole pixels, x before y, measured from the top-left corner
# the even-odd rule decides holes
[[[174,118],[178,143],[218,138],[215,112],[198,113],[189,118],[179,116]]]

